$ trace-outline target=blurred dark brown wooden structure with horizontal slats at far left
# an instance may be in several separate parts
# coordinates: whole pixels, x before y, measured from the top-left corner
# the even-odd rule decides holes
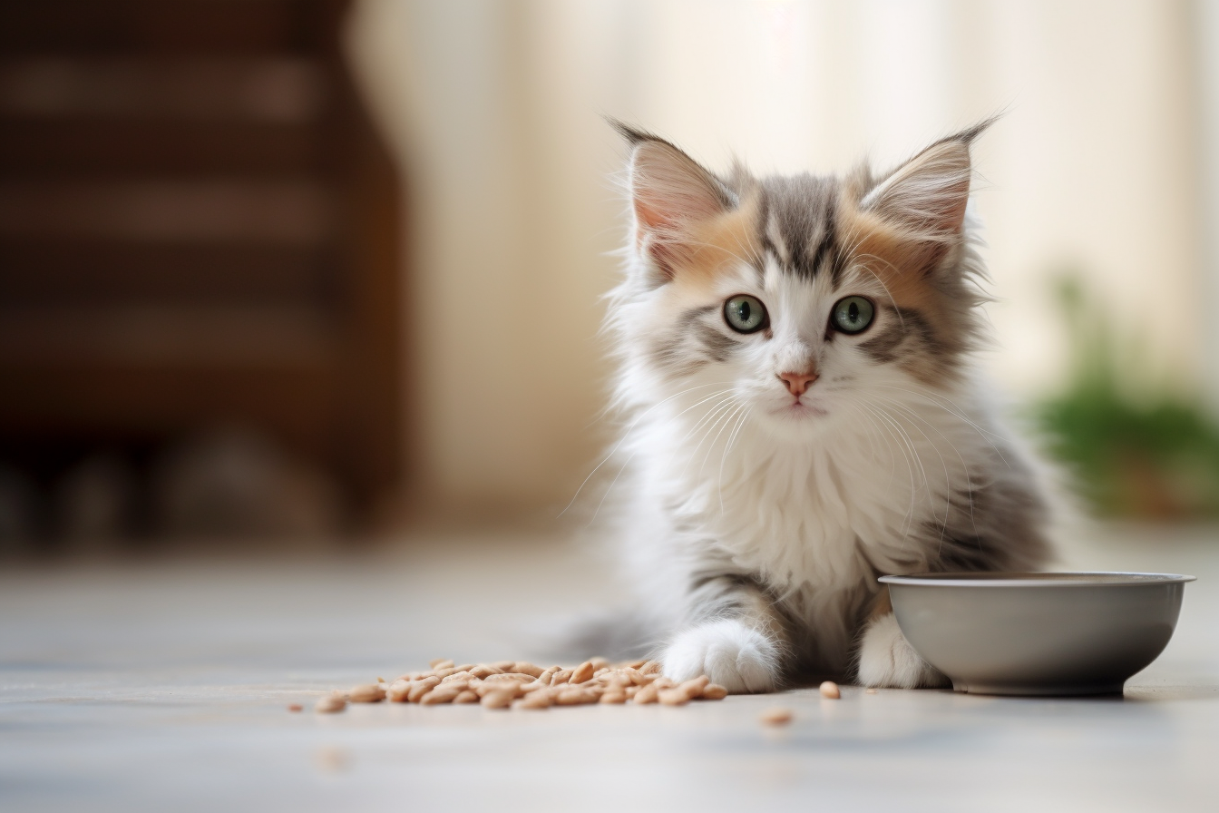
[[[0,460],[254,427],[401,475],[399,173],[339,0],[0,4]]]

